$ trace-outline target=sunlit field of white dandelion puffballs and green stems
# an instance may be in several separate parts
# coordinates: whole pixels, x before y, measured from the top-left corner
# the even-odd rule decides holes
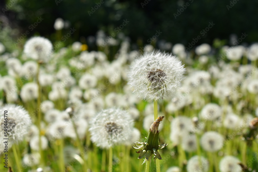
[[[257,43],[64,46],[56,22],[0,43],[0,171],[258,170]]]

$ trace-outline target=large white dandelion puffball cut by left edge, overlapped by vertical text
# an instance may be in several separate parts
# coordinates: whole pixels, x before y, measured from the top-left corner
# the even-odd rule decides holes
[[[4,113],[7,115],[7,127],[8,127],[8,138],[11,142],[18,143],[22,141],[24,136],[28,134],[31,119],[28,112],[21,106],[14,104],[7,104],[0,108],[0,132],[4,134],[5,118]]]

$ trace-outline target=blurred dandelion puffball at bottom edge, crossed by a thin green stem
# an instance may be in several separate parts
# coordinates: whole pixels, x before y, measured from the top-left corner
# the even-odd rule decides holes
[[[188,172],[207,172],[209,169],[209,162],[206,158],[200,157],[201,162],[199,162],[198,155],[189,159],[186,169]]]

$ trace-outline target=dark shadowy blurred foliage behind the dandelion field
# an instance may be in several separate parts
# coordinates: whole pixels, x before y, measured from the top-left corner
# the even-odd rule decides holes
[[[240,37],[242,33],[248,35],[242,43],[250,44],[258,40],[258,1],[102,0],[103,3],[98,7],[100,1],[5,0],[1,3],[2,25],[8,23],[11,28],[16,28],[13,37],[17,39],[19,34],[30,31],[29,26],[38,17],[42,17],[43,21],[30,31],[28,37],[41,35],[55,41],[53,24],[57,18],[62,18],[70,22],[71,28],[77,29],[66,45],[75,41],[87,43],[87,37],[95,36],[100,29],[107,35],[114,33],[114,38],[117,38],[115,28],[124,20],[129,22],[121,32],[130,37],[132,43],[138,42],[138,45],[139,42],[149,43],[149,38],[156,31],[162,33],[155,42],[165,39],[172,44],[188,45],[199,35],[201,39],[196,45],[212,44],[215,38],[230,44],[229,35]],[[6,5],[10,9],[3,12]],[[215,25],[202,36],[200,31],[208,27],[209,22]],[[70,27],[63,33],[67,33]]]

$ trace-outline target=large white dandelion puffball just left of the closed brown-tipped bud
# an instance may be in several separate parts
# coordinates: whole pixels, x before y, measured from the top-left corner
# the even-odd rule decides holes
[[[133,130],[133,120],[126,111],[105,109],[92,118],[89,131],[91,140],[101,148],[110,148],[128,141]]]

